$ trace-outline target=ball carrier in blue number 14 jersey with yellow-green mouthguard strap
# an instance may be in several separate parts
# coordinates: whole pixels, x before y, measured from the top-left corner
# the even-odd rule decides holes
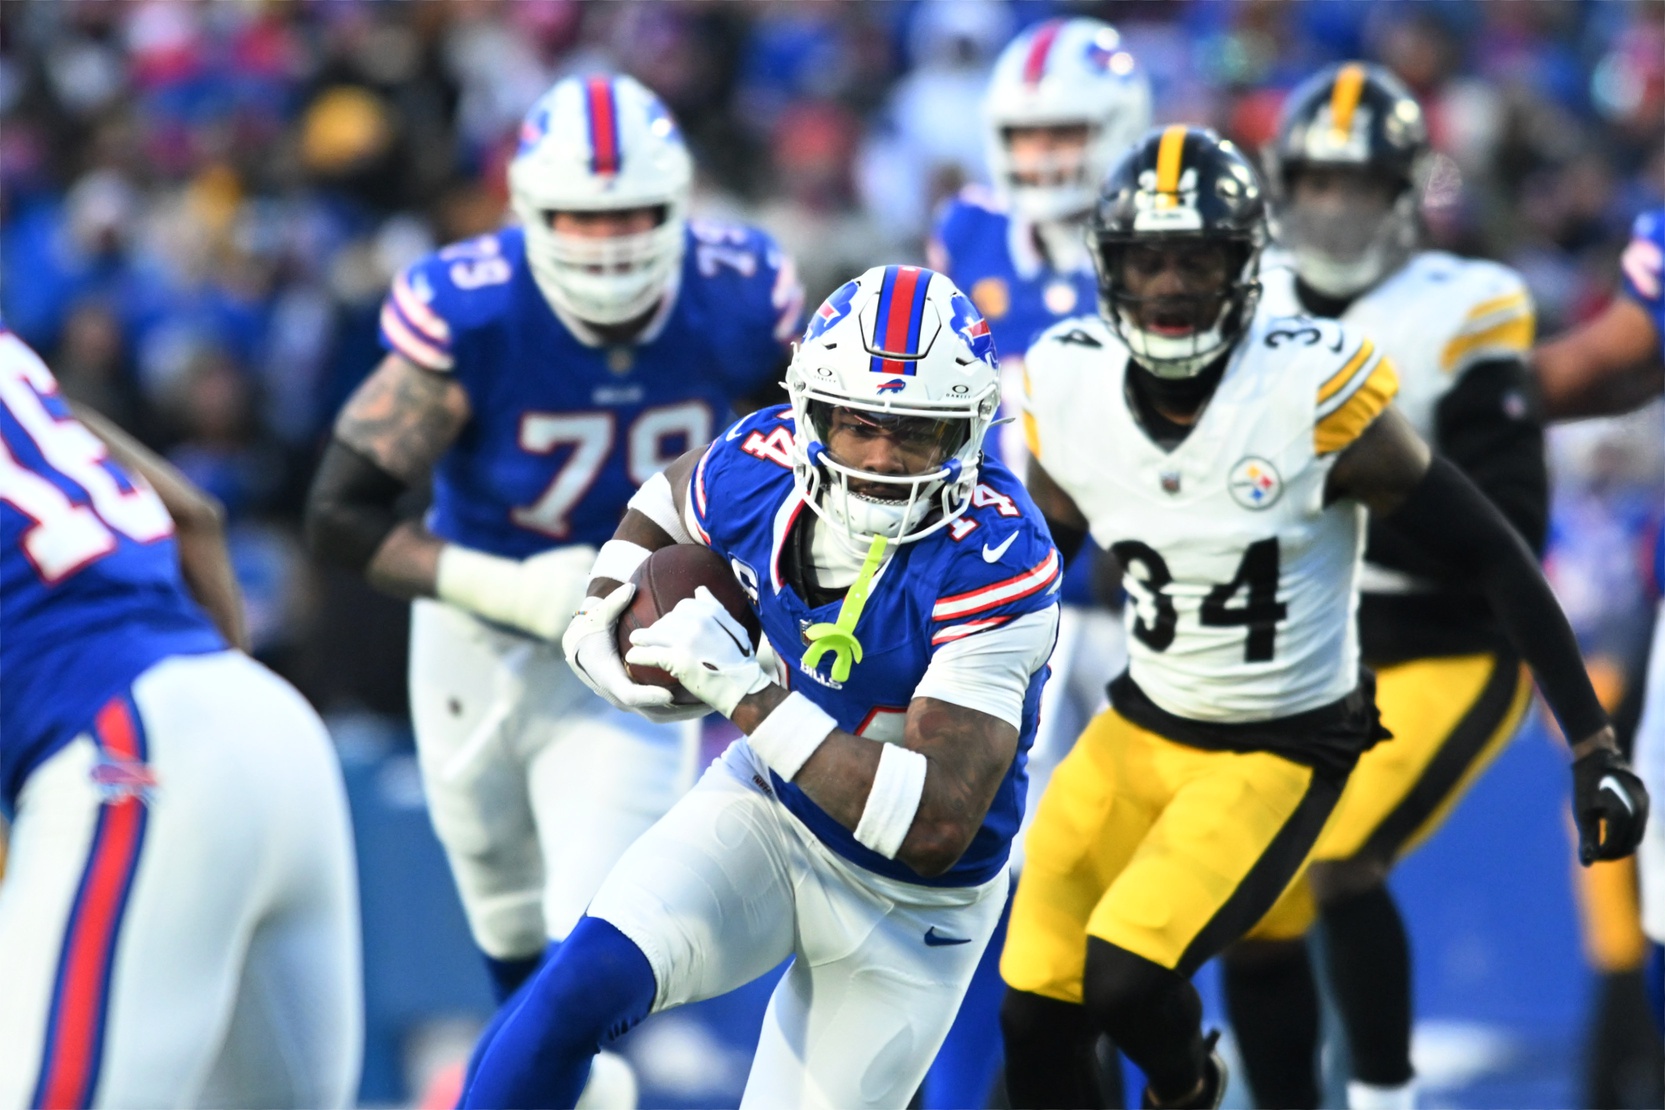
[[[811,318],[791,408],[633,506],[563,639],[573,667],[614,704],[668,701],[621,666],[619,582],[699,543],[751,594],[776,679],[708,591],[633,634],[631,664],[748,737],[624,852],[481,1042],[465,1105],[571,1107],[601,1043],[789,955],[741,1105],[912,1095],[1006,899],[1057,627],[1057,551],[982,453],[997,388],[987,325],[947,278],[874,268]]]

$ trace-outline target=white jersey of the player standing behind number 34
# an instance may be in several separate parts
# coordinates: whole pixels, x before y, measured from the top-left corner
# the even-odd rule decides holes
[[[1295,270],[1287,255],[1269,256],[1260,273],[1260,305],[1300,315]],[[1439,446],[1435,411],[1470,366],[1523,358],[1537,326],[1532,295],[1520,275],[1494,261],[1422,251],[1340,315],[1342,325],[1370,336],[1399,371],[1394,404],[1417,434]],[[1525,399],[1522,398],[1522,406]],[[1425,589],[1402,571],[1365,562],[1360,589]]]

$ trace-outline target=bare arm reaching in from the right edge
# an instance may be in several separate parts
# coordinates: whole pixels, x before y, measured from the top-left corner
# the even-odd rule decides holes
[[[1590,323],[1540,343],[1532,366],[1548,419],[1628,413],[1665,393],[1660,333],[1628,296],[1615,296]]]

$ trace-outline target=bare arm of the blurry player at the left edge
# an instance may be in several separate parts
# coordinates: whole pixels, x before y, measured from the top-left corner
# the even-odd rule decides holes
[[[110,458],[138,473],[162,498],[162,506],[173,518],[185,586],[196,604],[208,611],[226,642],[248,651],[243,591],[231,572],[231,553],[225,546],[225,506],[100,413],[78,401],[70,401],[70,411],[103,441]]]

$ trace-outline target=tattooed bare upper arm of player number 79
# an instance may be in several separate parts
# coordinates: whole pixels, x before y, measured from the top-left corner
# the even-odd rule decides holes
[[[468,398],[450,378],[403,361],[376,368],[341,409],[335,434],[416,483],[468,421]]]

